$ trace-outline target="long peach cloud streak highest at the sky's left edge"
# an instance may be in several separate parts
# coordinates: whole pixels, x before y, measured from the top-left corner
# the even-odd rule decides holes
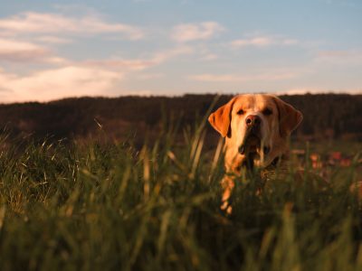
[[[123,23],[107,23],[94,14],[66,17],[62,14],[27,12],[0,20],[0,31],[5,33],[119,33],[129,40],[138,40],[144,33],[138,27]]]

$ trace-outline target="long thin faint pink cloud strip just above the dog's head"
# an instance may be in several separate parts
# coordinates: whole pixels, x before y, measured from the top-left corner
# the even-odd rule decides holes
[[[299,75],[294,71],[279,71],[279,72],[266,72],[252,75],[237,75],[237,74],[198,74],[189,76],[188,79],[204,82],[244,82],[254,80],[282,80],[291,79]]]

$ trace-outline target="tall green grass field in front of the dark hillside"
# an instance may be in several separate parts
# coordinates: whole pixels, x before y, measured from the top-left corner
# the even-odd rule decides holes
[[[4,135],[0,270],[362,270],[362,201],[351,190],[362,181],[360,143],[293,143],[303,182],[291,168],[257,192],[258,174],[246,174],[228,215],[223,159],[203,148],[204,126],[181,144],[167,127],[141,149]],[[313,168],[310,154],[337,151],[348,165]]]

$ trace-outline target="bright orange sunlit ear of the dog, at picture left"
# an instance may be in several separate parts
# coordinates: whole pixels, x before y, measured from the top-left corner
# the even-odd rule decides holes
[[[233,109],[233,103],[235,98],[231,99],[223,107],[219,107],[214,113],[208,118],[211,126],[219,132],[223,137],[228,135],[231,122],[231,112]]]

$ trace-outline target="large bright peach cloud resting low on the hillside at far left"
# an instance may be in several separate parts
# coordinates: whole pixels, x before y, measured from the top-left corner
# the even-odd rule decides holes
[[[2,102],[105,95],[123,79],[120,72],[82,67],[41,70],[19,76],[0,70]]]

